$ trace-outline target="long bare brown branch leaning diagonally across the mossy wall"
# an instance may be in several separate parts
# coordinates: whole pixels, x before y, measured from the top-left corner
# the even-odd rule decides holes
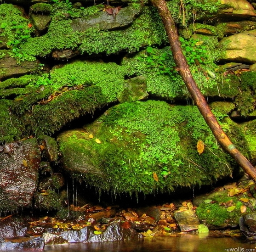
[[[229,140],[228,136],[225,134],[220,124],[218,123],[216,117],[211,112],[208,103],[205,101],[205,97],[202,95],[197,84],[195,83],[190,72],[188,62],[182,52],[182,47],[175,22],[171,17],[171,13],[168,10],[165,0],[151,0],[151,2],[158,9],[159,15],[164,23],[176,67],[179,69],[179,73],[181,74],[182,79],[193,98],[193,101],[204,117],[205,122],[208,124],[209,128],[211,129],[212,133],[216,137],[216,140],[222,146],[222,148],[234,158],[234,160],[244,169],[245,173],[247,173],[252,179],[256,181],[256,168],[252,166],[252,164]]]

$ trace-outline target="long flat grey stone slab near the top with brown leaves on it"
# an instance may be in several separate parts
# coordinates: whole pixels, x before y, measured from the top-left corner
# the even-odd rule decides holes
[[[112,10],[112,8],[109,8]],[[73,31],[84,32],[88,28],[99,27],[102,30],[121,28],[132,23],[135,16],[140,13],[140,9],[128,6],[125,8],[113,8],[116,15],[110,15],[107,11],[97,12],[89,17],[76,18],[72,20]]]

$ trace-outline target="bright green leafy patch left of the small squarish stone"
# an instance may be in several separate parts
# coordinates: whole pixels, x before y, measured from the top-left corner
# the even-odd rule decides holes
[[[63,86],[96,85],[108,102],[116,101],[123,90],[125,69],[115,63],[75,61],[51,73],[54,89]]]

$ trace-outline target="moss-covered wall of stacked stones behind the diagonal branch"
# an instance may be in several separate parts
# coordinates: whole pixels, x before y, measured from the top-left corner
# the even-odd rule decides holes
[[[183,2],[168,6],[193,76],[255,163],[255,3]],[[0,178],[6,167],[11,178],[1,211],[32,202],[60,210],[67,174],[99,191],[146,194],[238,176],[193,106],[149,2],[6,0],[0,79]]]

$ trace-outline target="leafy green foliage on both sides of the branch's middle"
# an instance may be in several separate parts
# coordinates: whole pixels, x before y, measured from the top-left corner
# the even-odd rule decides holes
[[[238,94],[239,79],[235,75],[224,78],[221,73],[215,72],[216,65],[206,52],[208,46],[204,46],[203,41],[181,40],[183,49],[187,50],[185,55],[190,62],[193,78],[204,95],[232,98]],[[200,65],[194,64],[195,61]],[[176,71],[169,46],[163,49],[148,47],[137,54],[130,54],[124,58],[122,65],[128,76],[144,75],[147,78],[147,91],[153,95],[169,100],[189,96],[181,76]]]

